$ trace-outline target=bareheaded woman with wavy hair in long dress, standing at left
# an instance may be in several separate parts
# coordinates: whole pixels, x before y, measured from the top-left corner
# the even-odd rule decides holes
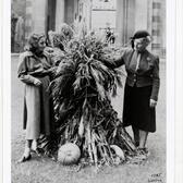
[[[29,49],[20,56],[17,70],[19,78],[25,84],[23,127],[26,130],[25,150],[19,162],[30,159],[33,141],[34,150],[37,150],[36,141],[40,134],[50,135],[53,121],[52,100],[48,90],[53,65],[44,54],[45,35],[33,34],[28,45]]]

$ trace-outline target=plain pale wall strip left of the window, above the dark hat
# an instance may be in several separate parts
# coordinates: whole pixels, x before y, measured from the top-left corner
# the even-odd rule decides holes
[[[147,0],[117,0],[117,41],[126,46],[137,29],[147,29]]]

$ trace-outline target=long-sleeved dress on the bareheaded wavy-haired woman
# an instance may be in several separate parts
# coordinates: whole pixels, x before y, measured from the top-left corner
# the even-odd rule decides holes
[[[51,68],[46,56],[38,58],[30,51],[20,56],[17,77],[25,84],[23,129],[26,130],[26,139],[36,139],[40,134],[50,135],[53,122],[53,105],[48,90]],[[40,86],[34,84],[35,78],[41,82]]]

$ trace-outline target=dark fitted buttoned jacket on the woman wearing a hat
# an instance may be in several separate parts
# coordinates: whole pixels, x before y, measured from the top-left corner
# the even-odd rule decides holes
[[[158,93],[160,86],[159,78],[159,58],[154,56],[148,50],[145,50],[141,54],[139,68],[136,71],[136,51],[134,49],[125,49],[123,54],[112,62],[106,62],[112,68],[119,68],[125,65],[127,77],[126,84],[133,87],[152,86],[150,98],[158,100]],[[101,60],[103,60],[101,58]]]

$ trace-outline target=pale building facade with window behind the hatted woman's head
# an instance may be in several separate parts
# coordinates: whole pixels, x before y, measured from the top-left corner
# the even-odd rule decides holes
[[[166,0],[117,0],[118,45],[127,45],[137,29],[147,29],[154,53],[166,54]]]

